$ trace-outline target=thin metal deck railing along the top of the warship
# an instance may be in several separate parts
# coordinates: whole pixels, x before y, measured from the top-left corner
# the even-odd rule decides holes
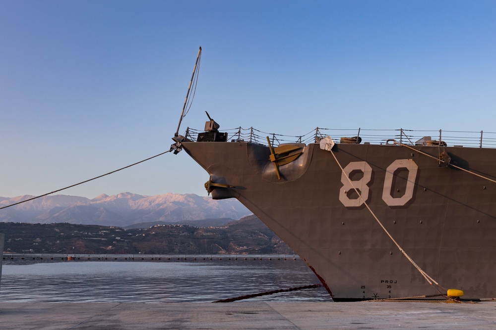
[[[203,131],[187,128],[186,138],[196,141],[198,133]],[[269,137],[272,145],[281,143],[315,143],[321,138],[330,136],[335,142],[341,138],[360,137],[362,143],[385,144],[387,140],[394,139],[400,143],[409,145],[422,145],[427,140],[444,141],[448,146],[464,146],[479,148],[496,148],[496,132],[483,131],[417,131],[417,130],[373,130],[373,129],[331,129],[317,127],[307,134],[301,136],[282,135],[275,133],[262,132],[253,127],[244,129],[238,127],[235,129],[222,130],[228,134],[227,141],[247,141],[267,145]]]

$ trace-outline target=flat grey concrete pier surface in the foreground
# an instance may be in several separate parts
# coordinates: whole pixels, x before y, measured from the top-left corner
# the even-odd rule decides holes
[[[0,303],[1,329],[495,329],[496,305],[429,302]]]

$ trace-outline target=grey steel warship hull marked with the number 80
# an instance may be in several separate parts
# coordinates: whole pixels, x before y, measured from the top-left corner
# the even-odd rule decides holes
[[[183,142],[210,175],[213,198],[237,198],[297,252],[336,301],[435,294],[312,143],[278,180],[269,148]],[[438,148],[416,146],[438,156]],[[495,180],[496,149],[444,147],[452,163]],[[337,144],[348,177],[405,252],[463,298],[496,296],[496,184],[397,145]]]

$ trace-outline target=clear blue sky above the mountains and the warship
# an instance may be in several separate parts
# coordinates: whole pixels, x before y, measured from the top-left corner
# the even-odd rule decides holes
[[[169,149],[187,126],[496,132],[496,1],[0,0],[0,196]],[[61,193],[206,195],[166,154]]]

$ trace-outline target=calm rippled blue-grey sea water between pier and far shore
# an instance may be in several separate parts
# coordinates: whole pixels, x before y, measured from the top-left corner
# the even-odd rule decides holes
[[[300,259],[3,264],[0,302],[210,302],[319,283]],[[242,301],[332,301],[324,288]]]

